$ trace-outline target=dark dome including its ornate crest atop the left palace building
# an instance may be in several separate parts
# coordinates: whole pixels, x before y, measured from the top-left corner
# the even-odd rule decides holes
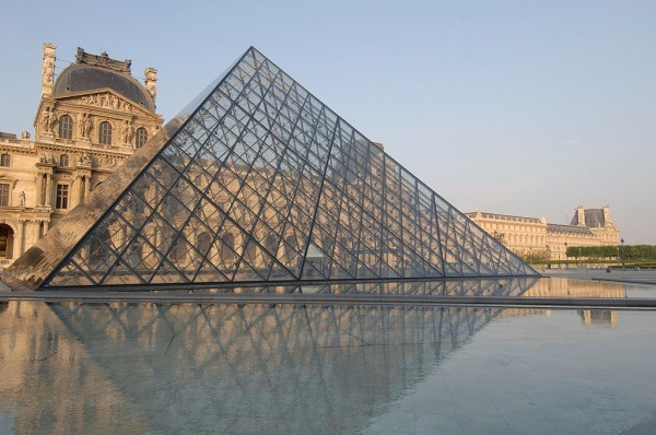
[[[75,63],[65,69],[55,81],[54,96],[110,89],[149,111],[155,111],[151,94],[131,74],[131,60],[115,60],[106,52],[99,56],[78,48]]]

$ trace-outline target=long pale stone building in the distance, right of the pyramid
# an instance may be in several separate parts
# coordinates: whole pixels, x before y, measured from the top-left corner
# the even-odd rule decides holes
[[[524,258],[565,260],[567,247],[618,246],[620,228],[610,208],[577,207],[569,225],[547,223],[544,216],[522,217],[484,212],[466,213],[481,228]]]

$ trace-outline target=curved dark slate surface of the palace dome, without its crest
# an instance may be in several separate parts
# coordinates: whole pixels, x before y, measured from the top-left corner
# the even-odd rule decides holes
[[[63,70],[55,81],[54,96],[70,93],[95,91],[104,87],[140,104],[150,111],[155,111],[155,102],[145,87],[126,72],[108,68],[74,63]]]

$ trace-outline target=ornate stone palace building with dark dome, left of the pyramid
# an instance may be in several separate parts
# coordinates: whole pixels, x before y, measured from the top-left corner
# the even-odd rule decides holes
[[[0,132],[0,270],[161,128],[156,70],[145,83],[131,60],[78,48],[75,62],[55,77],[56,47],[44,44],[42,97],[34,141]]]

